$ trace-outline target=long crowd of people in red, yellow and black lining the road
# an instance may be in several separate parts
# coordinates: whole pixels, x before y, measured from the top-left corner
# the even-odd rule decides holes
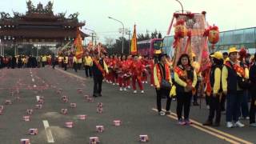
[[[33,56],[1,57],[1,68],[40,67],[46,64],[85,70],[86,78],[94,80],[94,97],[102,96],[102,82],[118,86],[118,90],[131,89],[134,94],[145,93],[144,85],[156,90],[159,115],[171,114],[170,105],[177,101],[176,113],[179,125],[189,125],[190,106],[198,106],[198,96],[206,99],[209,116],[203,125],[220,126],[221,115],[226,113],[226,127],[243,127],[240,119],[250,120],[256,127],[256,54],[246,54],[230,48],[228,53],[210,54],[206,69],[189,54],[182,54],[174,63],[160,51],[154,57],[139,55],[107,55],[96,50],[86,52],[82,58],[74,55],[58,55],[35,58]],[[137,88],[138,85],[138,88]],[[162,98],[166,98],[166,111],[162,111]],[[250,103],[250,109],[249,109]],[[184,111],[184,117],[182,117]]]

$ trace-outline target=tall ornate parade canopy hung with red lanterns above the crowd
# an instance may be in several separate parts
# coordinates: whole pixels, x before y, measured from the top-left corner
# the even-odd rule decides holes
[[[167,34],[174,29],[174,57],[173,66],[176,66],[181,54],[189,54],[192,59],[199,62],[201,70],[209,63],[210,51],[214,51],[214,45],[218,42],[218,26],[207,26],[206,11],[192,13],[190,11],[178,11],[173,14]],[[208,47],[208,42],[212,46]]]

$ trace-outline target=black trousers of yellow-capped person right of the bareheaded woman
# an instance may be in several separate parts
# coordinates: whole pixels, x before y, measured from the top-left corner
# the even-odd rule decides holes
[[[210,95],[210,114],[208,117],[208,120],[210,122],[213,121],[214,116],[215,117],[215,123],[219,123],[221,121],[221,100],[220,96],[216,95],[216,97],[213,96],[213,94]]]

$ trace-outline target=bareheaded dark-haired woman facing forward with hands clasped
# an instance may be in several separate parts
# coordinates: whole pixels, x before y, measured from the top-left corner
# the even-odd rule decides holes
[[[189,118],[190,103],[197,81],[197,74],[193,66],[191,66],[190,56],[188,54],[182,54],[174,69],[179,125],[190,125],[192,123]],[[184,110],[184,120],[182,119],[182,109]]]

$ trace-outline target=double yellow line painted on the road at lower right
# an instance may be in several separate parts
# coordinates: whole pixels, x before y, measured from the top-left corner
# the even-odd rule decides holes
[[[152,108],[152,110],[158,112],[157,109]],[[163,111],[166,111],[166,110],[163,110]],[[177,114],[174,114],[174,113],[171,113],[170,115],[166,115],[166,116],[169,117],[169,118],[173,118],[175,120],[178,119]],[[221,139],[223,139],[227,142],[234,143],[234,144],[236,144],[236,143],[253,144],[253,142],[248,142],[248,141],[243,140],[241,138],[235,137],[234,135],[227,134],[227,133],[225,133],[221,130],[216,130],[216,129],[210,127],[210,126],[203,126],[202,123],[196,122],[192,119],[190,119],[190,121],[193,123],[190,126],[196,128],[198,130],[202,130],[202,131],[206,132],[207,134],[211,134],[211,135],[213,135],[217,138],[221,138]]]

